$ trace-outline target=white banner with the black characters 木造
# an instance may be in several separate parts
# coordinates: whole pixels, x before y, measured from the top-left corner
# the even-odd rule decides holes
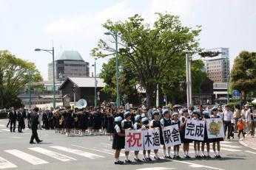
[[[144,136],[144,150],[152,150],[160,148],[160,131],[149,129],[142,130]]]

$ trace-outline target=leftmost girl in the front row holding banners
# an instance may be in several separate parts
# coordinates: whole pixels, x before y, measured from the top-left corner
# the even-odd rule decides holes
[[[113,134],[112,149],[115,149],[115,164],[124,164],[123,161],[119,160],[121,149],[124,149],[125,134],[121,132],[121,116],[115,118],[115,130]]]

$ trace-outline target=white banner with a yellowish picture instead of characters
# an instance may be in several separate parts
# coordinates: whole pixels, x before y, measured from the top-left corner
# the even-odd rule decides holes
[[[206,119],[208,138],[224,138],[223,121],[221,118]]]

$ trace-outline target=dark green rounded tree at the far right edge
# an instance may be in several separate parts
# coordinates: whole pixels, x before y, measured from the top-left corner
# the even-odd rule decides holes
[[[233,89],[241,91],[242,99],[246,93],[256,91],[256,52],[240,52],[231,71]]]

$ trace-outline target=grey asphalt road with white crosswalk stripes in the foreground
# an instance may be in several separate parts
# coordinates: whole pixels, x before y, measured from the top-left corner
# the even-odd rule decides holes
[[[256,169],[256,152],[235,141],[223,141],[221,160],[158,160],[152,163],[132,163],[114,165],[111,141],[107,136],[69,137],[55,134],[53,130],[38,130],[42,144],[29,144],[30,130],[23,133],[10,133],[6,128],[7,120],[0,120],[0,169],[18,170],[66,170],[66,169]],[[192,146],[190,156],[194,157]],[[183,152],[181,151],[181,156]],[[211,151],[211,155],[213,155]],[[142,158],[142,155],[139,155]],[[160,151],[160,156],[163,153]],[[130,156],[133,158],[133,154]],[[121,154],[124,160],[124,152]]]

